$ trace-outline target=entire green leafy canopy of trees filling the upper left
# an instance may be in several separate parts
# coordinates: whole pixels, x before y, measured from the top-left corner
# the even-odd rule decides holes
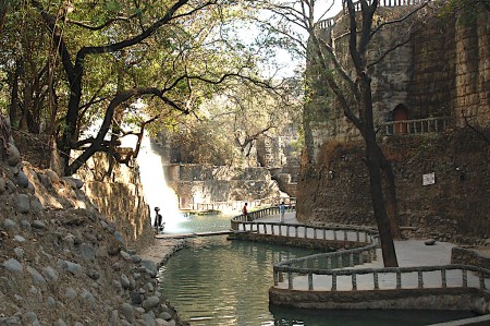
[[[203,120],[199,107],[225,89],[280,89],[260,69],[270,39],[238,37],[248,2],[3,3],[2,108],[14,128],[52,136],[64,174],[97,152],[131,160],[137,148],[123,157],[121,137]]]

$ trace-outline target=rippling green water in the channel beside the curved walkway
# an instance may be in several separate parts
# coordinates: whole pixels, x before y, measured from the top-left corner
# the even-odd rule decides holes
[[[183,217],[177,232],[229,228],[229,218]],[[167,230],[172,232],[172,230]],[[471,316],[434,311],[317,311],[269,306],[272,265],[316,253],[281,245],[198,238],[160,270],[161,292],[193,326],[427,325]]]

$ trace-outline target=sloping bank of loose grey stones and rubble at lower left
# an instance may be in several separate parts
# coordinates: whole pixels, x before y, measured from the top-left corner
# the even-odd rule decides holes
[[[125,246],[81,180],[21,161],[11,137],[0,147],[1,326],[183,325],[158,266]]]

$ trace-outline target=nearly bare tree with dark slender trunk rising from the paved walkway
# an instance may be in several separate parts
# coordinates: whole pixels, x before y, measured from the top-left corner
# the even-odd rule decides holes
[[[327,11],[335,1],[329,3]],[[306,32],[307,43],[303,40],[301,33],[292,28],[278,29],[275,26],[280,24],[275,22],[273,25],[269,24],[283,37],[302,43],[308,65],[311,68],[310,72],[317,73],[313,80],[327,85],[335,104],[342,108],[344,116],[356,126],[364,140],[364,161],[369,172],[370,196],[385,266],[397,266],[393,244],[393,238],[399,237],[396,194],[391,164],[376,138],[370,71],[388,53],[409,40],[418,26],[419,17],[416,13],[426,3],[411,8],[402,17],[383,20],[376,15],[379,8],[377,0],[342,1],[347,20],[344,36],[348,38],[346,50],[348,60],[341,59],[341,55],[345,55],[345,51],[341,52],[339,45],[332,41],[332,35],[320,35],[321,21],[315,19],[315,0],[267,5],[281,22],[293,24]],[[326,12],[320,13],[320,19],[324,14]],[[396,43],[377,53],[377,57],[369,55],[369,47],[380,31],[396,28],[401,24],[404,24],[406,33]],[[332,28],[329,32],[331,33]]]

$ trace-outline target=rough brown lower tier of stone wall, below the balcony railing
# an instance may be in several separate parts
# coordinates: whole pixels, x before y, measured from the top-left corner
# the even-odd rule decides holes
[[[488,242],[490,157],[478,134],[392,136],[383,148],[395,173],[400,225],[416,229],[411,237]],[[320,155],[318,165],[302,171],[298,220],[375,226],[363,145],[327,143]],[[431,172],[436,183],[422,185],[422,174]]]

